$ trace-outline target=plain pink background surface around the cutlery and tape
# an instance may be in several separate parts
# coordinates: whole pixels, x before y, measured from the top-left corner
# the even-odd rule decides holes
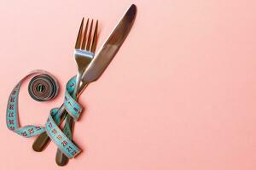
[[[20,93],[22,125],[44,125],[76,73],[73,46],[82,17],[100,21],[98,48],[125,9],[137,20],[102,77],[84,91],[74,140],[84,152],[55,165],[56,147],[5,125],[15,83],[52,72],[61,94],[38,103]],[[255,170],[256,3],[253,0],[0,0],[0,169]]]

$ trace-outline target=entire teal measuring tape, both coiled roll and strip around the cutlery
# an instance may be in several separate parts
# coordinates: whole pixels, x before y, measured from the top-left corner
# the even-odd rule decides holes
[[[59,125],[63,121],[63,119],[61,120],[61,114],[63,114],[62,111],[64,108],[68,112],[68,114],[73,116],[74,121],[77,121],[79,119],[80,113],[82,112],[82,107],[79,105],[76,99],[73,99],[73,90],[76,83],[75,81],[76,77],[72,77],[67,82],[64,105],[62,106],[62,108],[54,108],[50,111],[47,122],[45,123],[45,127],[35,126],[35,125],[26,125],[24,127],[20,127],[20,124],[19,124],[19,116],[18,116],[19,92],[20,92],[20,87],[22,82],[24,82],[27,78],[34,76],[31,82],[29,83],[30,84],[29,89],[31,88],[32,90],[32,92],[30,93],[34,93],[34,94],[31,94],[33,99],[34,99],[34,95],[37,95],[35,99],[37,99],[38,101],[42,101],[42,99],[53,99],[55,97],[56,94],[51,92],[50,89],[46,90],[47,85],[45,84],[45,82],[49,81],[48,85],[53,83],[53,82],[50,82],[49,77],[46,75],[52,78],[51,81],[55,82],[55,88],[53,88],[52,90],[55,89],[57,92],[58,83],[55,80],[55,77],[53,77],[48,71],[43,71],[43,70],[31,71],[26,77],[23,77],[20,80],[20,82],[17,83],[17,85],[15,86],[15,88],[13,88],[11,94],[9,95],[7,111],[6,111],[6,124],[9,130],[26,138],[37,136],[38,134],[44,133],[46,131],[46,133],[48,133],[49,135],[49,138],[54,141],[57,147],[69,159],[71,159],[74,156],[77,156],[82,150],[80,150],[79,146],[74,144],[73,140],[70,139],[70,136],[69,136],[71,133],[70,129],[67,129],[64,127],[65,130],[69,132],[69,135],[67,135],[67,133],[62,132]],[[35,91],[37,91],[37,93],[39,94],[36,94]],[[44,98],[42,96],[44,96]]]

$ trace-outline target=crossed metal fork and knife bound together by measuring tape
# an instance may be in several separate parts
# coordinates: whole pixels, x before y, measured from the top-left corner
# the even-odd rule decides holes
[[[122,43],[125,41],[131,26],[135,20],[137,14],[137,8],[134,4],[125,12],[124,16],[119,20],[117,26],[108,37],[107,41],[102,45],[102,48],[96,53],[96,42],[97,42],[97,30],[98,21],[96,21],[95,30],[92,35],[93,20],[90,22],[86,21],[84,26],[84,19],[82,20],[79,35],[75,44],[74,59],[78,65],[78,73],[76,76],[76,85],[73,91],[73,98],[78,99],[79,95],[83,93],[84,88],[90,83],[96,81],[108,67],[109,63],[113,59],[114,55],[117,54]],[[89,29],[89,33],[87,33]],[[70,140],[72,140],[73,131],[73,117],[70,116],[65,107],[61,105],[61,121],[66,120],[63,128],[65,133]],[[65,128],[68,127],[68,128]],[[69,129],[69,130],[67,130]],[[33,150],[38,152],[44,150],[46,145],[49,143],[48,134],[41,133],[32,145]],[[55,161],[58,165],[64,166],[68,162],[68,157],[60,150],[57,150]]]

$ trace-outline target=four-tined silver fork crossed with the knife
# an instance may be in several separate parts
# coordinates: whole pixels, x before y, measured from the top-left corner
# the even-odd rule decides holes
[[[89,26],[89,19],[86,21],[86,25],[84,28],[84,18],[82,20],[81,26],[79,28],[79,35],[75,44],[74,58],[78,65],[78,73],[76,77],[76,85],[73,91],[73,98],[77,99],[77,95],[79,88],[84,88],[84,85],[81,85],[81,77],[86,69],[86,67],[90,64],[91,59],[93,59],[95,51],[96,51],[96,42],[97,42],[97,29],[98,29],[98,20],[96,20],[95,31],[93,34],[93,38],[91,40],[93,20],[90,22],[90,31],[87,36]],[[83,36],[84,34],[84,36]],[[82,40],[83,39],[83,40]],[[69,139],[72,139],[72,131],[73,131],[73,117],[67,114],[66,123],[63,128],[63,133],[67,135]],[[68,162],[67,156],[65,156],[60,149],[57,150],[55,161],[59,166],[64,166]]]

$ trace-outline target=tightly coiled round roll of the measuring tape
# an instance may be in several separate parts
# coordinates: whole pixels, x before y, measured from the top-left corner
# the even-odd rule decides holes
[[[32,78],[28,84],[28,93],[37,101],[49,101],[58,94],[59,83],[49,74],[40,74]]]

